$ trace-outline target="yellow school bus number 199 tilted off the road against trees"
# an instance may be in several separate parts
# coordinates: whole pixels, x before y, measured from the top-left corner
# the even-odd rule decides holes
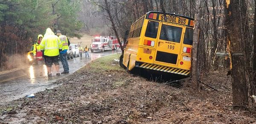
[[[150,11],[131,25],[122,64],[188,76],[194,19]]]

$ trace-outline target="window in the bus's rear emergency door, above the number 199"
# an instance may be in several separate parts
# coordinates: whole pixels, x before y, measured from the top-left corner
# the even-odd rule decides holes
[[[180,42],[182,28],[174,27],[170,25],[162,25],[160,32],[160,39],[171,41],[171,42]]]

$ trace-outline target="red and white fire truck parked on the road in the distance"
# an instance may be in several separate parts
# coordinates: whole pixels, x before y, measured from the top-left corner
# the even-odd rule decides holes
[[[116,50],[119,48],[119,43],[116,37],[95,37],[92,39],[92,44],[90,45],[90,50],[102,51],[105,50]]]

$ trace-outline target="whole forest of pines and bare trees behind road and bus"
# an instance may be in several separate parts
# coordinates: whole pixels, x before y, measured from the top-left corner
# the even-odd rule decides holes
[[[0,62],[12,68],[20,54],[43,34],[45,28],[64,31],[69,37],[116,35],[125,38],[130,25],[148,11],[181,14],[196,19],[193,44],[193,83],[200,89],[200,78],[210,70],[228,70],[237,106],[247,106],[248,94],[255,95],[256,0],[1,0]],[[40,27],[40,28],[38,28]],[[253,52],[254,50],[254,52]],[[217,52],[230,52],[229,57]],[[233,56],[233,53],[244,53]],[[195,54],[196,53],[196,54]],[[241,88],[242,87],[242,88]],[[242,93],[241,93],[242,92]],[[238,92],[237,92],[238,93]],[[233,94],[234,95],[234,94]],[[238,101],[239,102],[239,101]]]

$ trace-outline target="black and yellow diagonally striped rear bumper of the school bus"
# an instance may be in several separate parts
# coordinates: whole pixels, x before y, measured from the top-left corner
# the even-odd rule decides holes
[[[149,64],[149,63],[142,63],[142,64],[137,65],[137,67],[151,69],[151,70],[158,70],[158,71],[163,71],[163,72],[168,72],[168,73],[175,73],[175,74],[180,74],[180,75],[185,75],[185,76],[188,76],[190,73],[190,70],[183,70],[183,69],[166,67],[166,66],[161,66],[161,65],[154,65],[154,64]]]

